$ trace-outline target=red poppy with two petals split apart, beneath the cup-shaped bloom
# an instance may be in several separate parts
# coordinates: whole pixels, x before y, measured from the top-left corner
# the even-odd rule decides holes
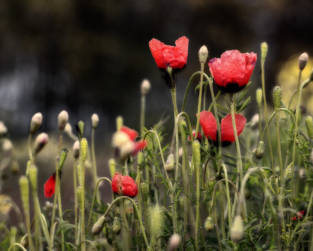
[[[242,133],[243,128],[246,124],[247,119],[240,114],[235,114],[237,135]],[[203,129],[205,136],[213,142],[214,145],[217,143],[217,125],[216,120],[212,112],[202,111],[200,112],[200,125]],[[228,146],[235,141],[234,130],[232,128],[232,115],[228,114],[221,121],[221,140],[222,146]]]

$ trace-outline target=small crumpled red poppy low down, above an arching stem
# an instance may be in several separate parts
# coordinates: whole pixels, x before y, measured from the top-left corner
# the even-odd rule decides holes
[[[115,173],[112,179],[112,190],[117,195],[126,195],[135,197],[138,193],[138,188],[132,177],[121,173]]]

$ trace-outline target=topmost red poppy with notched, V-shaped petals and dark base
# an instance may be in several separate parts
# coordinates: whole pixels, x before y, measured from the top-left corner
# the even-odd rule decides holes
[[[149,47],[160,70],[166,71],[170,66],[174,73],[185,68],[188,55],[189,39],[181,37],[175,41],[176,46],[165,45],[157,39],[151,39]]]

